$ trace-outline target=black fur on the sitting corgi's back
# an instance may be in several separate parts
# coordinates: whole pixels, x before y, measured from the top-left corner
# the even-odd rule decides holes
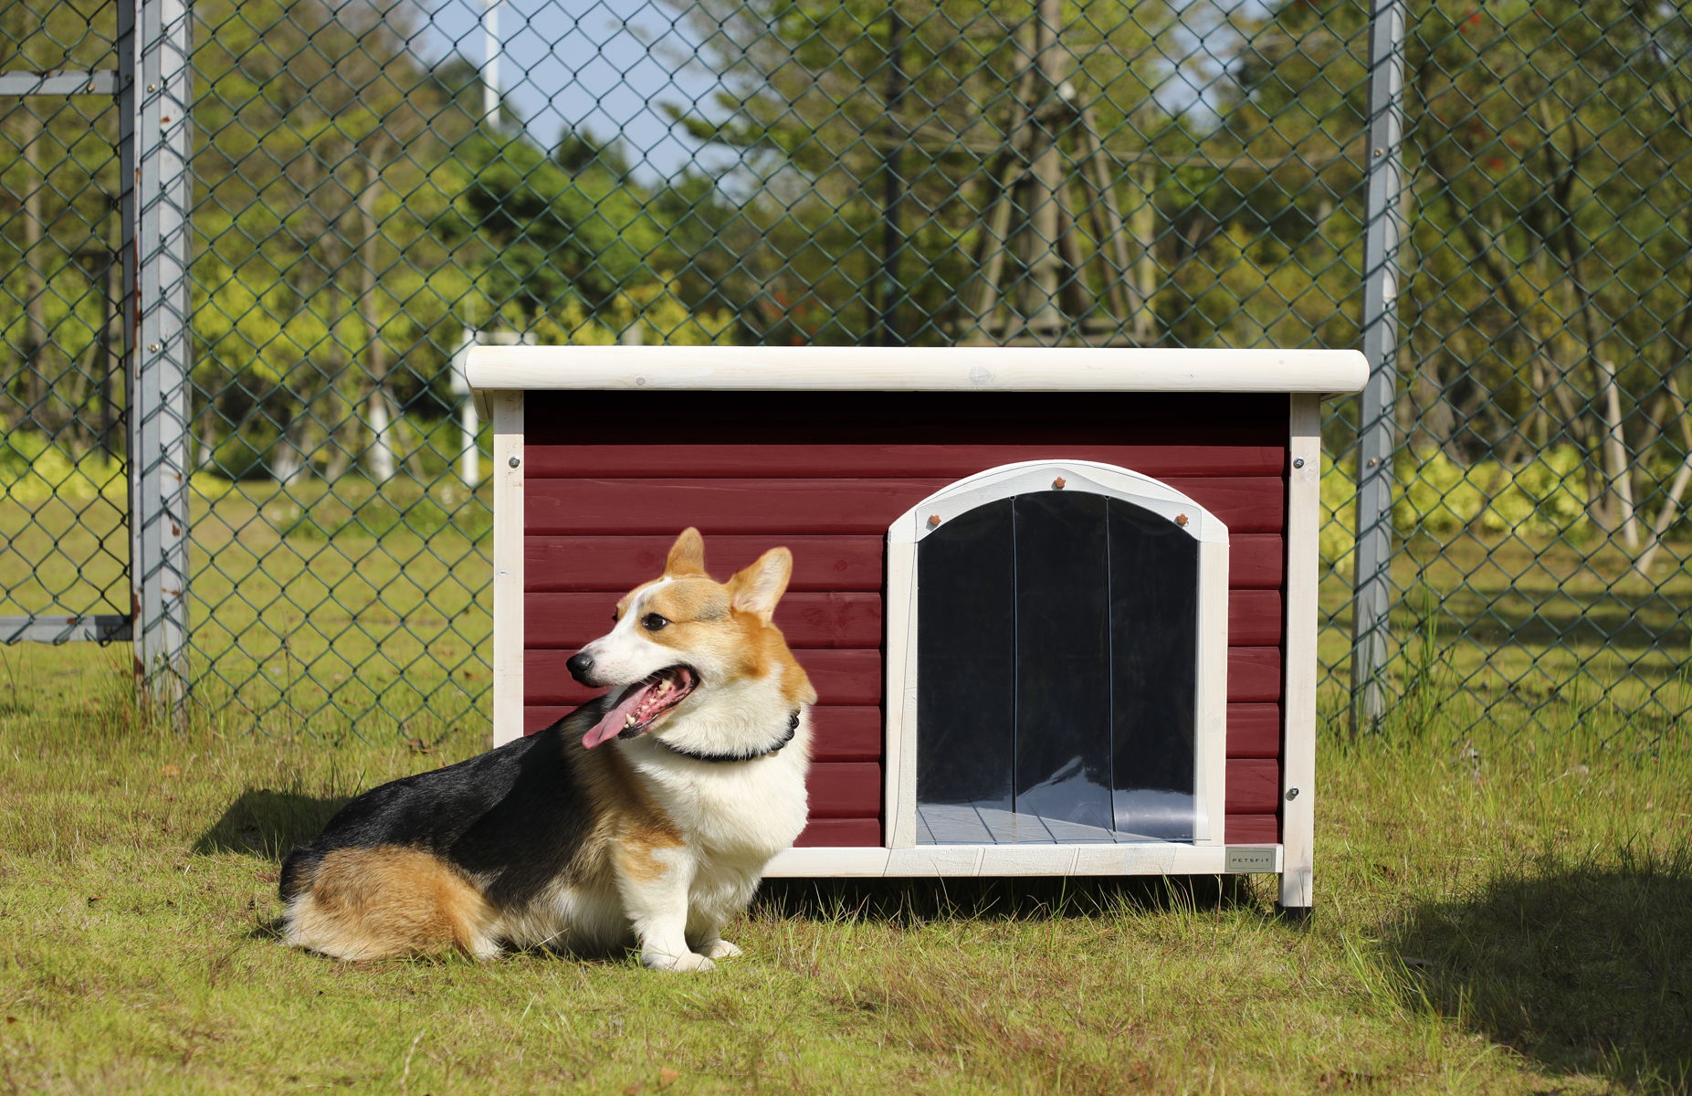
[[[371,788],[283,861],[283,901],[299,893],[327,852],[406,846],[426,849],[472,876],[499,907],[519,905],[569,868],[592,829],[591,805],[565,751],[604,714],[606,697],[540,734],[469,761]]]

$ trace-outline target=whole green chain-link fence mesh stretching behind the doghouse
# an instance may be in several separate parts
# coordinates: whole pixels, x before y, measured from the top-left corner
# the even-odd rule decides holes
[[[117,34],[96,0],[0,12],[3,73],[100,68]],[[1692,5],[191,20],[188,665],[247,726],[486,726],[474,342],[1354,347],[1365,323],[1391,369],[1376,413],[1330,406],[1325,710],[1372,688],[1365,729],[1650,746],[1692,709]],[[0,96],[0,616],[34,638],[129,612],[110,101]]]

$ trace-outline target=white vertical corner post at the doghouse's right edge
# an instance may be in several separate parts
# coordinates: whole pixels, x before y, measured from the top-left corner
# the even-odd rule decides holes
[[[1321,529],[1321,406],[1289,401],[1286,492],[1286,649],[1281,685],[1281,905],[1310,907],[1316,783],[1316,582]],[[1299,463],[1303,462],[1303,463]],[[1296,792],[1294,792],[1296,788]],[[1288,797],[1293,798],[1288,798]]]

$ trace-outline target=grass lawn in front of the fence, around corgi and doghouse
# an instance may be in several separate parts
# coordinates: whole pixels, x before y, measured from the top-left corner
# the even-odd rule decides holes
[[[1687,1091],[1684,741],[1438,710],[1323,743],[1305,929],[1267,880],[787,883],[709,976],[342,966],[269,934],[279,852],[479,736],[176,734],[118,651],[5,648],[0,1091]]]

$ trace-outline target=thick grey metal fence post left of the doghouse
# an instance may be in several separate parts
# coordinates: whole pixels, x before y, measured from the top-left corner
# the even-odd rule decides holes
[[[118,3],[135,677],[176,721],[188,697],[188,24],[186,0]]]

